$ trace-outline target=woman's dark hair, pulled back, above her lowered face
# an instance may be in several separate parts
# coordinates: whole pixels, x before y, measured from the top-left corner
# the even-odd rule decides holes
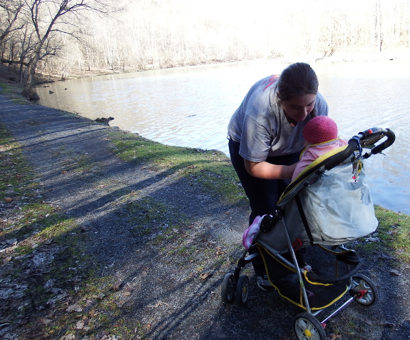
[[[277,81],[277,102],[287,101],[294,96],[317,94],[319,81],[312,67],[306,63],[287,66]]]

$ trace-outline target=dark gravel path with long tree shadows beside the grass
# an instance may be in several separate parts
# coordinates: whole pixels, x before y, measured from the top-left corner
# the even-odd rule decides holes
[[[221,203],[177,172],[158,174],[121,161],[112,152],[111,128],[80,116],[16,105],[0,95],[0,123],[16,136],[36,169],[43,200],[75,219],[86,233],[95,275],[127,287],[116,293],[121,313],[107,316],[96,334],[80,337],[73,332],[71,338],[58,339],[123,339],[105,331],[116,323],[135,328],[130,339],[295,339],[292,319],[300,310],[275,293],[257,289],[252,269],[247,270],[247,306],[226,306],[220,300],[222,278],[234,269],[241,251],[247,206]],[[70,159],[86,159],[88,171],[70,171]],[[128,224],[144,214],[141,200],[158,206],[158,212],[167,211],[167,218],[158,220],[146,237]],[[180,216],[188,219],[186,226],[165,235],[170,241],[158,241],[163,234],[155,228]],[[178,242],[173,243],[172,233],[178,234]],[[329,339],[410,339],[410,269],[392,254],[383,255],[372,254],[362,270],[379,287],[380,303],[369,309],[349,307],[329,324]],[[400,276],[392,275],[391,268]],[[67,305],[74,302],[66,298]],[[1,334],[3,339],[40,339],[10,324]]]

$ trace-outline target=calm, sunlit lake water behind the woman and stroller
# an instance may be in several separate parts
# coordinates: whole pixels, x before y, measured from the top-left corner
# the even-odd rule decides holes
[[[40,104],[97,119],[163,144],[228,155],[227,123],[250,86],[286,64],[268,61],[190,66],[93,76],[39,87]],[[410,61],[312,64],[329,116],[344,139],[374,126],[396,142],[367,161],[375,204],[410,214]],[[49,91],[53,91],[50,94]]]

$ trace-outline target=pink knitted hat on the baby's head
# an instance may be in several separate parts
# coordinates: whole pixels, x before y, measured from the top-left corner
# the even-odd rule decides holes
[[[303,138],[309,144],[337,139],[337,125],[328,116],[316,116],[304,126]]]

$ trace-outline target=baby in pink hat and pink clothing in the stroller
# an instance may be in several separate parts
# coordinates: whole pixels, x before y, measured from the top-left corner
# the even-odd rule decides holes
[[[347,145],[347,141],[337,136],[337,125],[328,116],[316,116],[303,129],[304,150],[294,169],[292,181],[306,166],[327,152]]]

